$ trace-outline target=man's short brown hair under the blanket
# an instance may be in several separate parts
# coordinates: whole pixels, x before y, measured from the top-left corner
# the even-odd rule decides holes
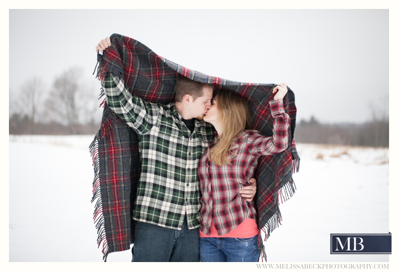
[[[213,84],[200,83],[185,76],[179,75],[176,81],[176,85],[174,86],[174,90],[176,91],[176,102],[182,102],[183,98],[186,94],[190,94],[193,99],[199,98],[203,96],[203,88],[214,89]]]

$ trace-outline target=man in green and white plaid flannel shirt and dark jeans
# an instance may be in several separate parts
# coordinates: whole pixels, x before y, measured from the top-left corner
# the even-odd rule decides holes
[[[96,51],[110,46],[107,37]],[[213,85],[180,76],[174,103],[149,103],[125,88],[123,79],[106,74],[101,83],[109,108],[138,134],[141,175],[133,219],[133,262],[198,262],[200,186],[198,162],[214,137],[201,121],[210,108]],[[255,180],[243,187],[251,201]]]

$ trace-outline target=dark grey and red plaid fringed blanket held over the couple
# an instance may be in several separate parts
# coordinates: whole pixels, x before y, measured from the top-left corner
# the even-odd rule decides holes
[[[252,84],[207,76],[187,69],[155,54],[137,40],[119,34],[110,36],[111,46],[98,55],[97,78],[103,81],[106,72],[124,79],[128,89],[153,103],[174,101],[174,84],[179,74],[192,80],[214,84],[214,90],[238,93],[249,104],[253,128],[263,135],[272,135],[272,116],[268,102],[275,84]],[[97,68],[97,66],[96,66]],[[95,68],[95,70],[96,70]],[[100,98],[104,95],[102,90]],[[292,174],[298,171],[299,157],[294,132],[296,127],[295,95],[289,89],[284,98],[285,110],[291,117],[289,147],[282,153],[259,159],[255,174],[255,196],[258,226],[265,239],[279,227],[282,216],[279,203],[295,193]],[[132,212],[140,174],[137,134],[118,118],[102,101],[101,126],[90,152],[95,178],[93,198],[94,221],[98,230],[98,246],[102,244],[103,259],[111,252],[130,249],[134,241],[135,221]]]

